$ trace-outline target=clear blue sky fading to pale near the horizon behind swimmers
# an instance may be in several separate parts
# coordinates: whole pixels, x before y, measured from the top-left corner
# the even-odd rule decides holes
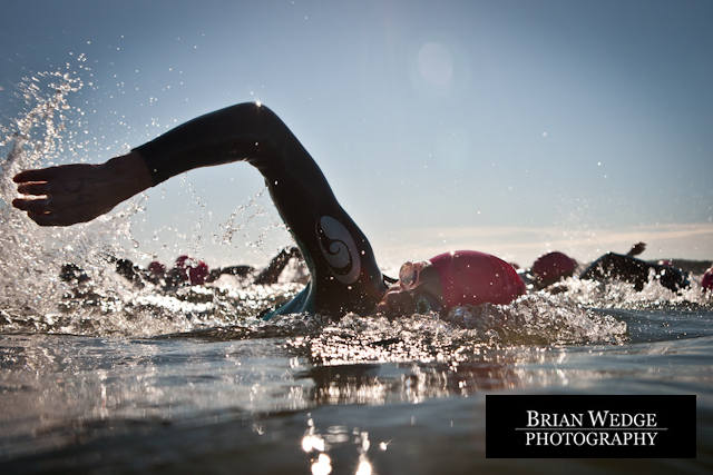
[[[648,243],[713,258],[710,1],[14,1],[0,123],[23,77],[64,70],[101,162],[260,100],[315,158],[384,267],[479,249],[528,265]],[[77,69],[81,62],[85,69]],[[81,139],[81,140],[80,140]],[[139,198],[162,260],[263,264],[290,237],[246,164]],[[226,227],[232,230],[226,231]]]

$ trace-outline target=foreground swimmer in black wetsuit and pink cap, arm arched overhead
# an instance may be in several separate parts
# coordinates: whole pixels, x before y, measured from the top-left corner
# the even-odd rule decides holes
[[[305,288],[267,313],[389,315],[463,304],[508,304],[525,294],[515,269],[477,251],[406,263],[384,277],[367,236],[334,197],[324,175],[267,107],[242,103],[193,119],[101,165],[75,164],[14,176],[12,205],[40,226],[90,221],[119,202],[194,168],[247,161],[265,179],[310,270]],[[390,285],[391,284],[391,285]]]

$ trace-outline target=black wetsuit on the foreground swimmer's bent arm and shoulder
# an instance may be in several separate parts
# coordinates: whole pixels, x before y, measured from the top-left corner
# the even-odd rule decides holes
[[[198,117],[135,149],[154,185],[197,167],[244,160],[260,170],[310,269],[311,281],[275,314],[370,313],[387,285],[369,240],[280,118],[242,103]]]

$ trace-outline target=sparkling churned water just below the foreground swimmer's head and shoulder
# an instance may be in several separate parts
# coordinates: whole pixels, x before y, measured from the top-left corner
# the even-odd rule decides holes
[[[468,362],[484,352],[511,346],[618,344],[626,324],[579,306],[563,306],[544,295],[510,305],[463,306],[447,315],[414,314],[398,319],[348,314],[319,334],[287,346],[329,365],[353,363]]]

